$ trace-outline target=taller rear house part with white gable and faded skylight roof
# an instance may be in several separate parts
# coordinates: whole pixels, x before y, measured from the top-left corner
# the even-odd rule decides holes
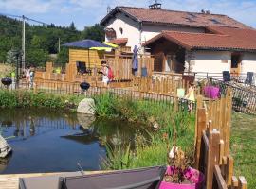
[[[106,41],[132,48],[163,30],[205,33],[205,26],[248,27],[226,15],[130,7],[116,7],[101,20],[101,25],[105,27]]]

